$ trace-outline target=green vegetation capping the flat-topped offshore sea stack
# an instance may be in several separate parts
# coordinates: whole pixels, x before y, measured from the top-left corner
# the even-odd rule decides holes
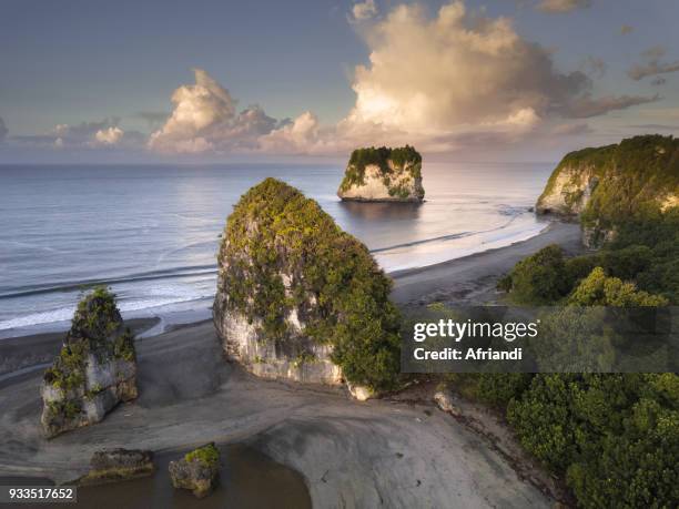
[[[385,179],[385,185],[389,187],[389,175],[393,173],[393,170],[389,167],[389,161],[396,169],[407,169],[413,179],[422,179],[422,155],[414,147],[409,145],[396,149],[388,149],[386,146],[376,149],[369,146],[356,149],[352,152],[346,173],[340,184],[340,190],[347,191],[355,185],[364,185],[365,169],[369,165],[379,167],[379,172],[383,179]],[[392,196],[399,195],[399,193],[403,194],[403,190],[394,189],[392,193],[389,189]]]

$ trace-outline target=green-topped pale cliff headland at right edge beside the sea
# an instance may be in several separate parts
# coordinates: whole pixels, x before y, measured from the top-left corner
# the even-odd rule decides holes
[[[539,214],[579,220],[597,246],[637,214],[679,205],[679,140],[646,135],[566,155],[537,201]]]

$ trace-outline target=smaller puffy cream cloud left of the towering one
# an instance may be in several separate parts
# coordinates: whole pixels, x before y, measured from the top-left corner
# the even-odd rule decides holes
[[[151,134],[149,147],[162,153],[252,151],[259,139],[282,123],[259,105],[240,113],[237,101],[202,69],[194,70],[195,84],[172,94],[174,110],[164,125]]]

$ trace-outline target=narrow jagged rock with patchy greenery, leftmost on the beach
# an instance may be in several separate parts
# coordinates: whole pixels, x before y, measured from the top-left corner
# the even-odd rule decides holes
[[[134,337],[113,294],[98,288],[78,304],[41,393],[48,437],[99,423],[119,403],[136,398]]]

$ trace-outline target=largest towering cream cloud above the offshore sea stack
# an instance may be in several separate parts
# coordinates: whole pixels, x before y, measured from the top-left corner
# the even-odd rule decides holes
[[[455,1],[428,17],[399,6],[365,34],[369,64],[357,67],[356,103],[345,122],[456,138],[526,132],[554,118],[588,118],[657,98],[591,95],[581,71],[559,72],[551,53],[527,42],[509,19],[467,12]],[[602,72],[604,62],[589,67]]]

